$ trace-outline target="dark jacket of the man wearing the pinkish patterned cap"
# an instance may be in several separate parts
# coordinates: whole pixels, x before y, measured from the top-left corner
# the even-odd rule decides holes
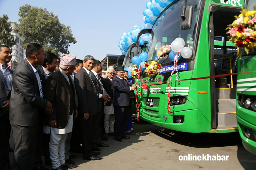
[[[62,129],[67,126],[69,115],[77,109],[75,102],[75,86],[69,76],[69,82],[57,70],[46,80],[44,98],[52,103],[52,114],[47,114],[45,124],[49,125],[50,120],[57,120],[57,128]]]

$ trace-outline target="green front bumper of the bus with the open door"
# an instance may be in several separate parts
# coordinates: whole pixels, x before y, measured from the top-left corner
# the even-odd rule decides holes
[[[164,119],[166,116],[166,120]],[[183,123],[174,123],[173,116],[184,116]],[[160,118],[149,116],[144,109],[141,112],[141,118],[144,121],[150,122],[157,126],[165,127],[168,129],[189,132],[189,133],[201,133],[201,129],[198,124],[198,110],[183,110],[178,112],[172,112],[171,114],[163,113]]]

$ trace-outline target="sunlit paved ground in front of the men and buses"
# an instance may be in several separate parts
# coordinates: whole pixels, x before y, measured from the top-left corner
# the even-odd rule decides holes
[[[78,167],[74,170],[97,169],[225,169],[255,170],[256,156],[244,149],[238,133],[182,133],[139,121],[133,116],[133,127],[129,136],[117,142],[111,136],[101,148],[102,160],[86,161],[82,154],[74,159]],[[229,156],[228,161],[179,161],[179,156],[202,156],[202,154]],[[13,167],[12,153],[10,153]],[[51,169],[51,167],[48,167]]]

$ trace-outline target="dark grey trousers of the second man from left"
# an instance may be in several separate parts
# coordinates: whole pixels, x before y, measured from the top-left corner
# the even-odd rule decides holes
[[[23,127],[10,122],[14,138],[14,161],[16,170],[33,169],[36,154],[38,120],[31,127]]]

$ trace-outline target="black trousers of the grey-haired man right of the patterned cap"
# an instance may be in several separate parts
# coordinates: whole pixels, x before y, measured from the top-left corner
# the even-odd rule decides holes
[[[82,136],[82,148],[83,158],[93,156],[92,155],[92,137],[93,137],[93,119],[94,116],[89,116],[88,120],[83,120],[83,114],[79,115],[81,136]]]

